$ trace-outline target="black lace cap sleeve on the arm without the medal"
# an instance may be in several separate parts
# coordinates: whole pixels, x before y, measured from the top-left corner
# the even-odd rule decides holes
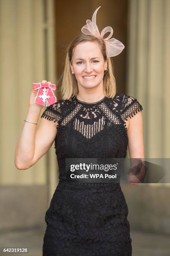
[[[127,118],[132,118],[135,114],[143,110],[142,105],[132,96],[125,95],[123,100],[122,119],[127,121]]]

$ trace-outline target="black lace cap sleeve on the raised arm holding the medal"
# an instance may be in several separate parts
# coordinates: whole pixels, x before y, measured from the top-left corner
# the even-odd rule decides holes
[[[62,117],[60,101],[48,106],[42,113],[41,118],[46,118],[47,120],[53,121],[54,123],[60,120]]]

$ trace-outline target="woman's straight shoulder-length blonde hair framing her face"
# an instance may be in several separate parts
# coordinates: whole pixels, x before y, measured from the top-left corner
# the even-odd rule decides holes
[[[75,75],[71,73],[70,64],[72,64],[72,54],[75,46],[80,42],[96,41],[101,49],[104,61],[107,61],[107,70],[103,76],[103,91],[106,97],[113,98],[116,94],[116,82],[113,75],[113,65],[110,57],[107,58],[105,42],[102,38],[96,38],[94,36],[81,33],[69,44],[67,47],[67,54],[65,59],[65,68],[62,73],[62,84],[59,89],[62,100],[68,100],[70,97],[77,95],[78,85]]]

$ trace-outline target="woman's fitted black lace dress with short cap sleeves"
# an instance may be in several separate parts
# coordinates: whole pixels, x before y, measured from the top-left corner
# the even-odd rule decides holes
[[[125,120],[143,108],[116,94],[94,103],[58,100],[41,118],[58,123],[59,183],[45,214],[43,256],[131,256],[128,206],[120,183],[67,182],[65,158],[125,158]]]

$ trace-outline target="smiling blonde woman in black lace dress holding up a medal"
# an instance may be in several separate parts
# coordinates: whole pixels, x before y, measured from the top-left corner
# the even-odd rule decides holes
[[[94,15],[92,26],[96,28]],[[65,172],[66,158],[125,158],[127,148],[130,158],[144,158],[142,106],[115,89],[110,56],[119,54],[121,46],[109,48],[96,33],[83,32],[72,41],[62,100],[46,108],[37,131],[42,106],[34,103],[36,94],[31,93],[15,165],[28,169],[55,141],[60,172],[45,214],[43,256],[132,255],[128,206],[120,183],[68,182]]]

